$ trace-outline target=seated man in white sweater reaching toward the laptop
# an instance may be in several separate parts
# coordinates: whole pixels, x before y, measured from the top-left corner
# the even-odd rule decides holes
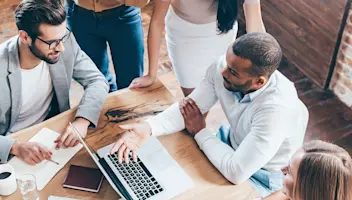
[[[280,169],[303,142],[308,111],[291,81],[277,68],[281,48],[267,33],[248,33],[208,68],[189,100],[147,121],[121,126],[127,131],[111,149],[120,162],[136,154],[151,136],[186,128],[210,162],[232,183],[249,180],[262,196],[281,188]],[[197,113],[217,102],[231,127],[217,136]],[[196,126],[195,126],[196,125]]]

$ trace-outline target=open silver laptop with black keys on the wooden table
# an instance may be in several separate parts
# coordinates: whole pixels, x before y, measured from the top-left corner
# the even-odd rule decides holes
[[[150,137],[137,151],[137,162],[132,161],[130,154],[128,164],[119,164],[117,152],[110,155],[113,143],[95,152],[71,123],[70,126],[112,188],[123,199],[171,199],[193,187],[192,179],[156,137]]]

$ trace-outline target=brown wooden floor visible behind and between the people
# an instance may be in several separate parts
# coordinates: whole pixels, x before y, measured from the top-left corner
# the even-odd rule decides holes
[[[0,43],[16,34],[13,10],[20,0],[0,0]],[[150,22],[151,6],[143,9],[143,27],[145,38]],[[243,34],[244,26],[240,23],[239,35]],[[306,52],[299,52],[302,56]],[[147,57],[145,56],[146,66]],[[295,83],[299,96],[307,105],[310,113],[309,125],[306,133],[306,141],[322,139],[337,143],[352,154],[352,111],[340,102],[330,91],[324,91],[309,80],[293,62],[283,59],[279,70]],[[312,63],[312,66],[314,63]],[[165,40],[163,40],[158,69],[160,79],[166,84],[176,100],[182,98],[175,76],[172,72],[171,63],[167,57]],[[77,103],[81,96],[81,90],[77,85],[72,88],[71,100]],[[75,104],[73,103],[73,104]],[[219,105],[216,105],[207,118],[208,126],[213,129],[221,123],[226,123],[226,118]]]

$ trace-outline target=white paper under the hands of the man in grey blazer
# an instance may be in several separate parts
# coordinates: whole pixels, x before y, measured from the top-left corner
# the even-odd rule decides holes
[[[51,159],[58,162],[59,165],[48,160],[44,160],[35,166],[31,166],[19,158],[14,157],[10,160],[9,164],[15,169],[16,176],[20,176],[22,174],[33,174],[37,181],[38,190],[42,190],[56,175],[56,173],[60,171],[60,169],[62,169],[65,164],[83,147],[82,144],[78,144],[72,148],[60,148],[56,150],[56,143],[54,143],[54,141],[58,136],[59,133],[43,128],[29,141],[38,142],[52,150],[53,155]]]

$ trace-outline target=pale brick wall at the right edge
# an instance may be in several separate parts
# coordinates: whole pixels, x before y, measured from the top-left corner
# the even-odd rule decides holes
[[[330,89],[342,102],[352,107],[352,6],[342,35]]]

